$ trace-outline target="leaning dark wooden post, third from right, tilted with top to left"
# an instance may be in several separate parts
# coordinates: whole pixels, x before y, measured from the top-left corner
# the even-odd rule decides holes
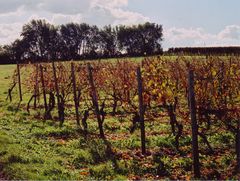
[[[93,106],[94,106],[95,114],[97,116],[100,137],[105,138],[104,131],[103,131],[103,126],[102,126],[103,123],[102,123],[102,119],[101,119],[100,111],[99,111],[99,106],[98,106],[98,98],[97,98],[96,88],[95,88],[94,81],[93,81],[92,68],[91,68],[91,65],[89,63],[88,63],[88,79],[89,79],[89,84],[91,86],[92,103],[93,103]]]

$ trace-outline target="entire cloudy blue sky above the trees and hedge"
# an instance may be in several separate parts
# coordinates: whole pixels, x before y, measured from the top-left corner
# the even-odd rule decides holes
[[[163,48],[239,46],[239,0],[0,0],[0,45],[20,38],[32,19],[69,22],[163,25]]]

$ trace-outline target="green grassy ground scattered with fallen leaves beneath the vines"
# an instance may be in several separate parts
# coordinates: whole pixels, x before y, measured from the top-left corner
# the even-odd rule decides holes
[[[29,97],[18,107],[6,101],[15,65],[0,66],[0,175],[5,179],[191,179],[191,138],[180,139],[181,151],[174,146],[168,119],[147,122],[146,156],[141,155],[140,131],[130,134],[131,116],[106,116],[106,140],[99,139],[97,122],[90,116],[84,134],[68,118],[62,128],[56,120],[44,121],[43,108],[26,111]],[[55,110],[56,111],[56,110]],[[71,115],[72,112],[67,114]],[[236,179],[232,172],[233,135],[212,133],[210,143],[217,150],[208,154],[200,140],[203,179]]]

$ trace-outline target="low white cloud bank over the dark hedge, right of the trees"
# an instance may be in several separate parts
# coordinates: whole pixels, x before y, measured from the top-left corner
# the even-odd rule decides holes
[[[239,46],[240,26],[230,25],[213,34],[203,28],[167,28],[164,30],[165,49],[188,46]]]

